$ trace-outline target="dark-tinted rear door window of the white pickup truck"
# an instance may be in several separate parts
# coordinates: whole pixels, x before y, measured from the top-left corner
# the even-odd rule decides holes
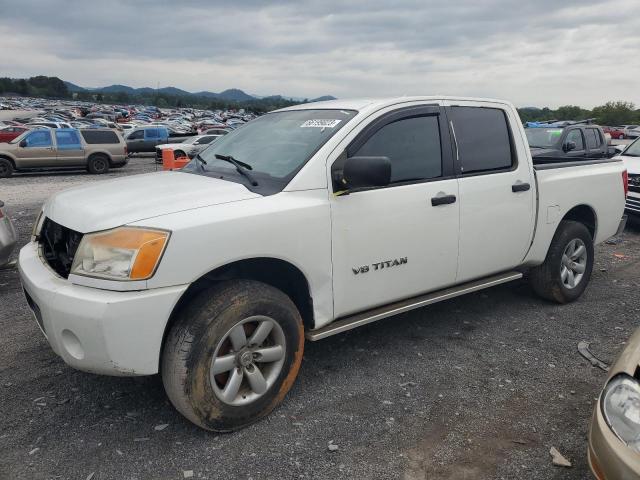
[[[450,115],[462,173],[507,170],[514,165],[514,149],[503,110],[451,107]]]

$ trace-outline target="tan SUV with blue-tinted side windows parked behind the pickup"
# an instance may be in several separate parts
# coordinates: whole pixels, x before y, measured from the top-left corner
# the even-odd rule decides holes
[[[0,143],[0,178],[32,169],[86,168],[101,174],[127,162],[124,140],[113,130],[41,128]]]

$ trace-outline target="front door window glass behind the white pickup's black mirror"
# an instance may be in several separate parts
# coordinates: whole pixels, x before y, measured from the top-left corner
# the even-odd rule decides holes
[[[388,157],[391,183],[442,176],[442,152],[437,116],[405,118],[374,133],[354,156]]]

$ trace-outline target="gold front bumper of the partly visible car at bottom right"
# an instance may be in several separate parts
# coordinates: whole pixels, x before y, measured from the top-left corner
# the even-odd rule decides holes
[[[605,422],[600,398],[589,427],[589,467],[598,480],[637,480],[640,477],[640,454],[628,448]]]

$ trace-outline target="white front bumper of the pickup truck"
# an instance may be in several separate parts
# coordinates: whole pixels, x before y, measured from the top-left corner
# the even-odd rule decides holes
[[[188,285],[115,292],[74,285],[20,250],[27,302],[54,352],[78,370],[105,375],[158,373],[167,321]]]

